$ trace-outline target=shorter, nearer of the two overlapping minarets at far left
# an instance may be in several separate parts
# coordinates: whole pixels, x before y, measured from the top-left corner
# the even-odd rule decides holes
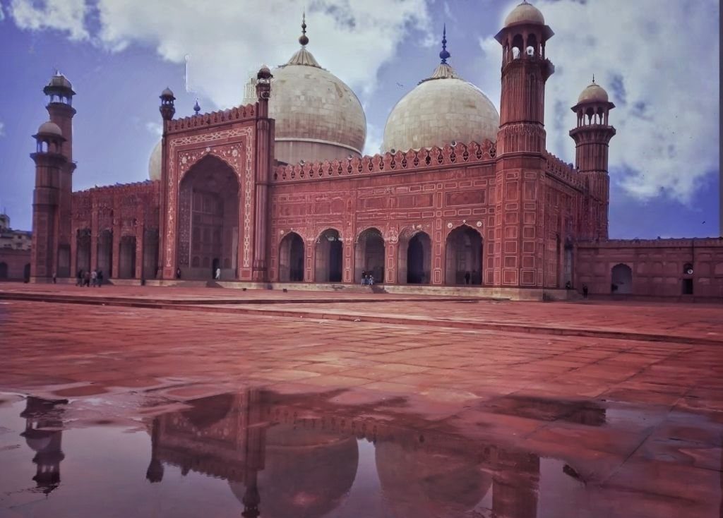
[[[37,148],[30,155],[35,161],[30,278],[33,282],[48,282],[58,269],[61,176],[68,168],[68,159],[63,152],[63,131],[54,122],[40,124],[33,137]]]

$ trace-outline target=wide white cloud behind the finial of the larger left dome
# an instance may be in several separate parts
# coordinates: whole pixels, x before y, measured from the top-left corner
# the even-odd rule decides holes
[[[189,56],[189,82],[217,107],[238,105],[249,70],[283,64],[299,48],[304,2],[99,0],[100,41],[114,51],[153,46],[174,63]],[[364,97],[411,30],[427,31],[424,0],[307,2],[309,51]],[[343,45],[339,42],[343,41]],[[179,78],[180,79],[180,78]]]

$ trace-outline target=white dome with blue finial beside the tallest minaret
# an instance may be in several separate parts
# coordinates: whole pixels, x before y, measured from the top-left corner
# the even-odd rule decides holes
[[[446,38],[443,45],[446,46]],[[497,139],[500,115],[495,105],[447,64],[446,48],[442,48],[440,57],[442,63],[432,77],[401,98],[389,114],[382,151]]]

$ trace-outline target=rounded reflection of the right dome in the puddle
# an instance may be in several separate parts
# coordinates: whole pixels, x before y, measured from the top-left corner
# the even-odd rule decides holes
[[[375,456],[385,500],[398,517],[467,516],[492,485],[489,473],[463,455],[380,441]]]

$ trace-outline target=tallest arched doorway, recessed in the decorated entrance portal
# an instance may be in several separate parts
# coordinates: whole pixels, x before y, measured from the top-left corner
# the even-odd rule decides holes
[[[238,277],[239,180],[230,165],[206,155],[179,188],[178,264],[184,279]]]

